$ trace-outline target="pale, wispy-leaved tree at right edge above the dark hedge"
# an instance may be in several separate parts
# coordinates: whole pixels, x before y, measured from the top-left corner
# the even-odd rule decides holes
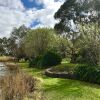
[[[80,39],[77,61],[90,65],[100,65],[100,29],[98,25],[86,25],[85,34]],[[96,27],[96,29],[95,29]],[[94,31],[96,30],[96,31]]]

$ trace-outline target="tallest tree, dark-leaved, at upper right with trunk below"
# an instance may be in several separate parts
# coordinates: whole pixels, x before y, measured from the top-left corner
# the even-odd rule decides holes
[[[59,22],[55,25],[58,33],[66,33],[70,40],[71,61],[74,62],[77,56],[77,43],[80,37],[87,34],[87,27],[97,33],[100,24],[100,0],[66,0],[60,9],[55,13],[55,19]],[[82,38],[81,38],[82,39]]]

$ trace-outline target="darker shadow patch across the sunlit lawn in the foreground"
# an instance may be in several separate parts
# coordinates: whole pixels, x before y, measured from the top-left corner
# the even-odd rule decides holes
[[[78,95],[81,95],[82,92],[79,82],[63,79],[60,79],[56,84],[45,85],[45,91],[63,91],[67,95],[70,93],[77,93]]]

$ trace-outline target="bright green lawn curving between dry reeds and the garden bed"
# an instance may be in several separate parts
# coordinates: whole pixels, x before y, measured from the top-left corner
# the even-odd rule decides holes
[[[27,63],[20,63],[23,70],[43,80],[42,100],[100,100],[100,86],[77,80],[50,78],[43,75],[41,69],[28,68]]]

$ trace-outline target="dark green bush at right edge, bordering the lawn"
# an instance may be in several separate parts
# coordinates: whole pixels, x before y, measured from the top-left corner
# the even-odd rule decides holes
[[[94,66],[79,66],[74,70],[76,79],[100,84],[100,68]]]

